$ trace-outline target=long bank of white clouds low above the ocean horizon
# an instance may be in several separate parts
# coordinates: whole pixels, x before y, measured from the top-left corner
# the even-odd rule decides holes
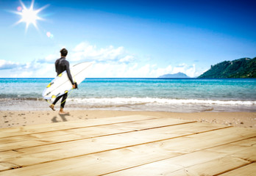
[[[177,66],[166,65],[159,67],[157,64],[147,63],[143,65],[133,54],[129,54],[124,47],[97,48],[96,45],[89,43],[79,43],[68,53],[70,65],[77,62],[90,61],[94,64],[88,68],[90,78],[157,78],[168,73],[182,72],[188,76],[195,77],[196,65],[187,65],[185,63]],[[49,78],[56,76],[54,62],[60,55],[49,54],[44,59],[34,60],[24,65],[15,62],[0,60],[0,70],[8,70],[1,73],[9,74],[4,77],[40,77]],[[15,68],[15,69],[13,69]]]

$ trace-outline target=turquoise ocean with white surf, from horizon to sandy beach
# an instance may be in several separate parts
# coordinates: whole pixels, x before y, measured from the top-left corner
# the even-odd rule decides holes
[[[50,110],[42,92],[52,79],[0,78],[0,110]],[[256,111],[256,79],[86,78],[65,109]]]

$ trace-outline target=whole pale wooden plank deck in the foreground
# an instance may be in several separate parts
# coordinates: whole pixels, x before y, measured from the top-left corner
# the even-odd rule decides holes
[[[0,129],[0,175],[256,175],[256,131],[151,116]]]

